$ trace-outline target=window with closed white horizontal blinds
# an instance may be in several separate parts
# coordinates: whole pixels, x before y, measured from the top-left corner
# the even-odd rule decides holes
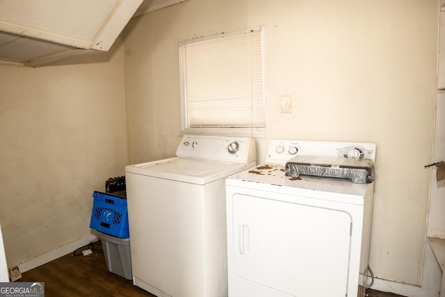
[[[185,133],[263,136],[264,29],[179,45]]]

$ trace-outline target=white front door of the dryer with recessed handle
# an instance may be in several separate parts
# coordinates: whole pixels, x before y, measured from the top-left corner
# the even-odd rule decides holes
[[[346,296],[348,212],[266,195],[233,196],[235,275],[291,296]]]

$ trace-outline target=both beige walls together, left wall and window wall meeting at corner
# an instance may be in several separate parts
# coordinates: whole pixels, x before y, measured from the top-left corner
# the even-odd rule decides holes
[[[267,138],[257,139],[258,159],[274,138],[376,143],[371,267],[420,284],[438,2],[188,0],[133,19],[124,49],[118,40],[78,65],[0,65],[8,264],[87,236],[92,191],[127,163],[175,154],[179,42],[265,26]],[[293,97],[293,113],[280,113],[281,95]]]

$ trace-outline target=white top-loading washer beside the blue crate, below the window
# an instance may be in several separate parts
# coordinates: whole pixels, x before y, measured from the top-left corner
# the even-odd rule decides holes
[[[187,135],[176,155],[126,167],[133,284],[227,296],[225,177],[256,165],[254,141]]]

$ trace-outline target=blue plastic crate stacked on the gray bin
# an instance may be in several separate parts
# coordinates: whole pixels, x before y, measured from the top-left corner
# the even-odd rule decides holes
[[[113,194],[92,193],[90,228],[119,238],[129,238],[127,199]]]

